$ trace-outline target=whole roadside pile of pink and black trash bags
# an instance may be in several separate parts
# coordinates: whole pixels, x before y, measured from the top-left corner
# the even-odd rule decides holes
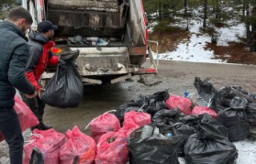
[[[52,152],[59,163],[70,164],[179,164],[179,157],[190,164],[235,163],[238,150],[232,142],[248,138],[254,128],[256,95],[239,86],[216,89],[200,78],[194,86],[198,92],[184,96],[170,90],[138,96],[93,119],[86,126],[90,136],[78,127],[64,137],[34,130],[24,147],[26,158],[41,151],[45,163],[57,158]]]

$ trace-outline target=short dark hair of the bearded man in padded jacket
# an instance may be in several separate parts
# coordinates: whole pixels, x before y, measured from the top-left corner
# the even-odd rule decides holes
[[[11,9],[8,13],[8,20],[18,21],[18,19],[25,19],[26,23],[33,23],[30,12],[23,7],[15,7],[14,9]]]

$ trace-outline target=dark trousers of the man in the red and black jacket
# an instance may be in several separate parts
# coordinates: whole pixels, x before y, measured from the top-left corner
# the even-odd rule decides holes
[[[30,107],[31,111],[33,111],[34,115],[38,118],[38,121],[42,123],[42,117],[43,113],[45,112],[46,103],[44,103],[42,100],[39,99],[38,96],[29,99],[20,92],[20,95],[22,96],[22,100],[28,107]]]

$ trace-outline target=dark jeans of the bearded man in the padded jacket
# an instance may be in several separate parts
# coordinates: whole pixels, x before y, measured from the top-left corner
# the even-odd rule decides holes
[[[9,146],[10,164],[22,164],[24,139],[14,108],[0,108],[0,131]]]

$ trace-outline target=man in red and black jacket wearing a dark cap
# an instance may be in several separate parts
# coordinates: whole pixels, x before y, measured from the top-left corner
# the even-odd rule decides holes
[[[26,64],[26,78],[34,85],[34,88],[38,91],[38,96],[33,99],[27,98],[22,93],[21,96],[22,100],[30,107],[39,121],[38,126],[31,128],[32,130],[34,128],[39,130],[51,128],[42,122],[46,103],[41,100],[44,90],[39,80],[42,73],[46,70],[47,64],[58,64],[58,57],[55,57],[50,50],[55,45],[54,41],[51,40],[54,37],[54,30],[57,29],[58,26],[53,25],[50,21],[42,21],[38,24],[38,32],[31,31],[29,34],[30,58]]]

